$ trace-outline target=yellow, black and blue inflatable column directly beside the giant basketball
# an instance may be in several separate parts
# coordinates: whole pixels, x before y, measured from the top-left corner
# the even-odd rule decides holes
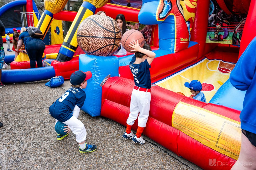
[[[77,44],[77,29],[80,23],[87,17],[94,14],[96,8],[100,8],[106,4],[108,0],[83,0],[83,4],[79,8],[77,15],[71,24],[67,35],[60,47],[59,53],[57,55],[57,61],[69,61],[73,57]]]

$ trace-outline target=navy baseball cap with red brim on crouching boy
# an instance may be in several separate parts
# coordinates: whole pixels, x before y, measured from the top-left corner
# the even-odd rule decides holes
[[[70,76],[70,83],[72,85],[80,85],[83,81],[88,80],[92,77],[92,73],[90,71],[83,72],[81,70],[75,71]]]

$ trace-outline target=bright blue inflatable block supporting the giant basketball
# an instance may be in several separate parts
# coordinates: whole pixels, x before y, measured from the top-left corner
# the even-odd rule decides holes
[[[91,116],[100,116],[102,87],[100,83],[109,74],[111,77],[118,76],[119,59],[115,56],[102,57],[87,54],[79,55],[79,70],[91,71],[92,78],[87,81],[86,99],[83,107],[84,112]]]

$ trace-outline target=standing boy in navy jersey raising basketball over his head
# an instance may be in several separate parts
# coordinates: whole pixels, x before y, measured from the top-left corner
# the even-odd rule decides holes
[[[126,121],[126,131],[123,134],[124,139],[132,139],[134,143],[139,143],[140,145],[145,143],[141,134],[146,126],[149,109],[150,109],[150,88],[151,88],[151,78],[149,68],[150,64],[154,60],[156,54],[152,52],[150,46],[145,43],[143,48],[134,41],[131,43],[130,47],[134,48],[131,51],[135,51],[130,62],[130,70],[134,78],[134,89],[132,91],[130,115]],[[140,115],[138,116],[138,113]],[[138,117],[138,128],[134,135],[131,131],[134,121]]]

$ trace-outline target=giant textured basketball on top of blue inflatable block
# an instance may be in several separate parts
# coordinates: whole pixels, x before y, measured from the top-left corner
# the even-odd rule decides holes
[[[121,30],[108,16],[91,15],[77,29],[77,43],[89,55],[112,56],[121,42]]]

